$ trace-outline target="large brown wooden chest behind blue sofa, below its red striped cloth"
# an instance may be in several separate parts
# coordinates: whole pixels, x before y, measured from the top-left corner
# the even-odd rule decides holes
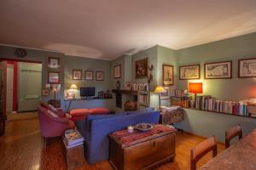
[[[169,132],[155,133],[124,144],[112,133],[110,163],[116,170],[138,170],[151,169],[163,162],[172,161],[175,156],[175,136],[176,129],[173,128]]]

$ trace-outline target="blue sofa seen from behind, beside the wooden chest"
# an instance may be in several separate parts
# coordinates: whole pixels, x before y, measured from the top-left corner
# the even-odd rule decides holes
[[[76,122],[77,129],[84,136],[84,157],[90,164],[109,158],[108,134],[140,122],[158,123],[160,111],[124,112],[116,115],[90,115]]]

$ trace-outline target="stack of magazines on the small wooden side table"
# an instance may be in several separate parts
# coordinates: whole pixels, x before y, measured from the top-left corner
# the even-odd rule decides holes
[[[84,144],[84,138],[77,130],[68,129],[65,131],[64,144],[67,148],[73,148]]]

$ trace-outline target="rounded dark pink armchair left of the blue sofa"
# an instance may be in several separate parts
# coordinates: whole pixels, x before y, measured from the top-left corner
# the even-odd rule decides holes
[[[74,123],[67,117],[60,117],[53,114],[46,108],[38,107],[38,118],[41,128],[41,135],[46,139],[49,137],[61,136],[65,130],[74,128]]]

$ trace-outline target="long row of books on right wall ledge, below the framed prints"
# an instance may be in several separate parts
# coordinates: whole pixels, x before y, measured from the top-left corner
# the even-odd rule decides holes
[[[209,95],[197,96],[195,108],[204,111],[216,111],[233,115],[249,116],[246,103],[218,100]]]

